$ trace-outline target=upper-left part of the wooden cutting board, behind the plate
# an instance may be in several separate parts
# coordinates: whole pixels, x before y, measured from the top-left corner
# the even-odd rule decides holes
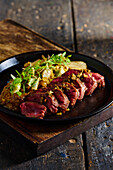
[[[66,50],[12,20],[0,22],[0,61],[20,53],[51,49]]]

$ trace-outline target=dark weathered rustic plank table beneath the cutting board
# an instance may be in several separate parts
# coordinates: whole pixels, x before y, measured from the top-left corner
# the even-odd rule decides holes
[[[101,60],[113,69],[112,6],[112,1],[105,0],[1,0],[0,20],[13,19],[70,50]],[[33,158],[31,143],[0,121],[0,169],[111,170],[112,131],[111,118]],[[12,140],[14,136],[16,138]]]

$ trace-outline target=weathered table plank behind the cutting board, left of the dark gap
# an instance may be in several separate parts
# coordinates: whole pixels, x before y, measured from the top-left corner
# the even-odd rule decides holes
[[[1,0],[0,13],[0,20],[10,18],[73,50],[69,0]]]

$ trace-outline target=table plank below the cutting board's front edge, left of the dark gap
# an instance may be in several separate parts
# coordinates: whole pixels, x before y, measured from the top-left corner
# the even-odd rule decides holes
[[[60,145],[56,149],[48,152],[46,155],[42,155],[39,158],[28,161],[22,164],[11,168],[15,169],[81,169],[84,170],[84,155],[83,145],[82,145],[82,135],[80,137],[73,138],[66,142],[64,145]],[[76,153],[76,154],[75,154]]]

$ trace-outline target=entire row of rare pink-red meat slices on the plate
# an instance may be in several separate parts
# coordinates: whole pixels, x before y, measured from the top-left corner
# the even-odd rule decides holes
[[[97,87],[104,86],[104,77],[99,73],[69,69],[61,77],[52,80],[46,88],[31,92],[26,102],[20,105],[21,112],[40,119],[58,110],[65,113],[69,104],[74,106],[84,95],[91,95]]]

